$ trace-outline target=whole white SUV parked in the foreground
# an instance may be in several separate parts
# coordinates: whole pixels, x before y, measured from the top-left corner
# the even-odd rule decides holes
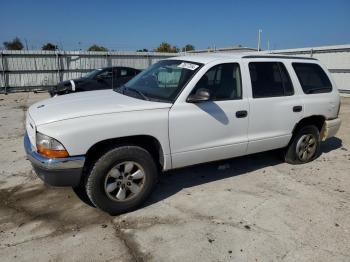
[[[162,170],[277,148],[288,163],[309,162],[338,131],[339,108],[315,59],[184,56],[115,90],[32,105],[24,143],[46,183],[118,214],[144,202]]]

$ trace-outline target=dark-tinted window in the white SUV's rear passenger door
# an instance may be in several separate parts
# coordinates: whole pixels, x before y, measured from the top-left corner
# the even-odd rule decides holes
[[[253,98],[290,96],[294,89],[287,69],[281,62],[249,63]]]

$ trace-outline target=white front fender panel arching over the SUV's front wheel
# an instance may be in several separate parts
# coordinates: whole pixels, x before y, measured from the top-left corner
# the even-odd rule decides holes
[[[72,118],[37,126],[37,131],[60,141],[71,156],[85,155],[94,144],[113,138],[149,135],[164,155],[170,155],[168,108]]]

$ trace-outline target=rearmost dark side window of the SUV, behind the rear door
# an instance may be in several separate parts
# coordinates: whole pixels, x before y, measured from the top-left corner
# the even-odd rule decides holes
[[[332,91],[332,84],[319,65],[310,63],[292,63],[292,65],[305,94]]]

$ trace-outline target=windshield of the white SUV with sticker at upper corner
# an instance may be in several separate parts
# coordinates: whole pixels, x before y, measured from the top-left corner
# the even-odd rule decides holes
[[[201,66],[183,60],[163,60],[131,79],[122,92],[142,99],[173,102]]]

